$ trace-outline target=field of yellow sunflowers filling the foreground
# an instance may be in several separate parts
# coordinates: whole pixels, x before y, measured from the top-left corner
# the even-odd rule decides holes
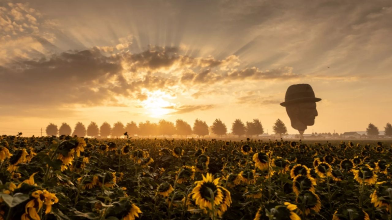
[[[0,136],[0,220],[392,220],[390,143]]]

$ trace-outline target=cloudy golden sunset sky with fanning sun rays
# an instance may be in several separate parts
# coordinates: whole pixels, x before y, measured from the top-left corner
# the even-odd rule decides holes
[[[279,118],[308,83],[305,133],[392,122],[390,0],[0,0],[0,134],[49,123],[231,128]]]

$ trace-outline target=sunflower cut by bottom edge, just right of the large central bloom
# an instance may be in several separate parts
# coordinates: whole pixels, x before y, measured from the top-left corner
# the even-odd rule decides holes
[[[268,202],[264,207],[260,207],[256,213],[254,220],[276,219],[276,220],[301,220],[294,212],[296,205],[285,202],[284,206],[278,202]],[[266,210],[270,213],[267,216]]]

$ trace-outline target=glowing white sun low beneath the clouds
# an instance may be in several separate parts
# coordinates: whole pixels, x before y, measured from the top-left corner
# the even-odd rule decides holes
[[[146,94],[147,99],[142,101],[142,106],[150,117],[161,118],[173,112],[175,104],[166,99],[174,99],[175,97],[161,90],[149,91]]]

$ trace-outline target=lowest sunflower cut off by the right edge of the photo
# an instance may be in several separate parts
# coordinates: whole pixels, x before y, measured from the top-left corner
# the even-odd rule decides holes
[[[374,204],[374,207],[382,208],[385,207],[385,210],[389,212],[390,201],[392,200],[391,192],[392,184],[383,182],[376,183],[376,189],[370,195],[371,202]]]

